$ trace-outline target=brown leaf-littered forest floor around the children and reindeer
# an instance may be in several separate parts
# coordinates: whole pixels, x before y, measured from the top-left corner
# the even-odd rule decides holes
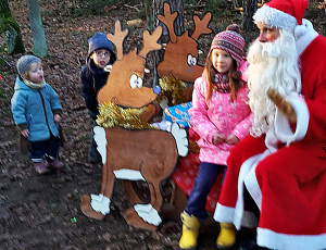
[[[33,39],[28,23],[26,1],[9,1],[12,14],[20,24],[26,53],[32,53]],[[126,22],[142,18],[136,3],[110,5],[101,15],[71,17],[68,5],[59,0],[40,1],[42,23],[46,30],[49,57],[42,59],[46,80],[60,96],[63,107],[62,127],[65,147],[61,148],[61,161],[65,168],[47,175],[38,175],[27,155],[17,147],[10,99],[16,77],[15,62],[22,54],[1,52],[5,64],[0,72],[0,249],[7,250],[173,250],[178,249],[181,223],[164,218],[155,232],[137,229],[126,224],[123,212],[129,208],[123,185],[115,183],[111,213],[104,221],[85,216],[79,208],[84,193],[100,190],[102,166],[87,163],[87,150],[91,121],[80,96],[80,67],[85,63],[88,38],[96,32],[112,33],[114,21]],[[70,2],[70,1],[67,1]],[[134,1],[130,1],[134,2]],[[196,13],[203,14],[202,11]],[[191,20],[191,13],[185,15]],[[224,15],[218,23],[211,23],[213,33],[221,26],[235,22],[239,15]],[[315,28],[326,32],[325,11],[312,11]],[[187,22],[186,27],[191,26]],[[125,49],[141,46],[140,32],[145,22],[129,27],[130,35]],[[325,34],[323,34],[325,35]],[[246,34],[243,35],[244,37]],[[248,35],[251,36],[251,35]],[[200,39],[200,49],[206,51],[213,34]],[[3,40],[3,37],[0,39]],[[148,79],[150,80],[150,79]],[[175,216],[178,217],[178,214]],[[201,228],[199,250],[216,249],[218,226],[208,220]]]

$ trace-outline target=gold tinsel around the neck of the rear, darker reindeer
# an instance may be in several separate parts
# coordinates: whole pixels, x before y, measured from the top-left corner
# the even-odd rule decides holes
[[[183,92],[186,89],[184,82],[164,76],[160,78],[159,84],[162,90],[155,100],[156,103],[160,103],[164,98],[167,98],[172,105],[183,103]]]

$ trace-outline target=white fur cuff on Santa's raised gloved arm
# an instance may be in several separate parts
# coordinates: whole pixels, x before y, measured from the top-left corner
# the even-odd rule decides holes
[[[310,115],[305,101],[299,96],[288,96],[285,100],[293,107],[297,114],[296,132],[292,132],[288,118],[277,109],[275,115],[275,134],[281,142],[289,146],[291,142],[301,140],[305,136]]]

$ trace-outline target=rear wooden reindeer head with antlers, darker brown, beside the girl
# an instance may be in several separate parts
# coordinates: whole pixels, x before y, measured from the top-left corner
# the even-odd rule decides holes
[[[173,23],[177,17],[177,12],[171,13],[168,3],[164,3],[164,15],[158,18],[164,23],[168,29],[170,41],[165,47],[164,59],[158,65],[158,74],[161,78],[178,78],[188,83],[193,83],[201,76],[203,65],[198,64],[198,39],[202,34],[211,34],[208,27],[212,14],[208,12],[202,20],[193,15],[195,32],[189,37],[188,30],[181,36],[176,36]]]

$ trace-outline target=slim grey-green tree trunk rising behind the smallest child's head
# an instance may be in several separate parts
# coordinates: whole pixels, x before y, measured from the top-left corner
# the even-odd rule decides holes
[[[27,0],[29,24],[33,36],[33,53],[37,57],[47,57],[48,47],[38,0]]]

